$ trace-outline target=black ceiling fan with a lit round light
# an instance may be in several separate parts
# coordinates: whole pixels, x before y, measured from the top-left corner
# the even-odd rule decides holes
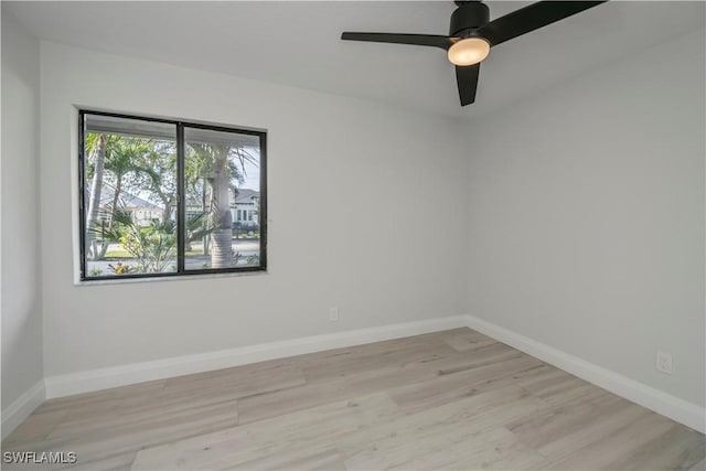
[[[342,40],[441,47],[456,65],[461,106],[475,101],[478,73],[490,49],[505,41],[580,13],[603,1],[539,1],[490,20],[481,1],[456,1],[449,35],[344,32]]]

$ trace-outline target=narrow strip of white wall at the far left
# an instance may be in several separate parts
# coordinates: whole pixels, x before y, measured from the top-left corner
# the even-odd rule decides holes
[[[38,231],[39,101],[39,42],[3,10],[0,210],[3,410],[44,376]]]

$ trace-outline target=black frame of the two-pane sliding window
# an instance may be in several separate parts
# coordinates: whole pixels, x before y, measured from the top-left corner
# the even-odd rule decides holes
[[[86,148],[86,115],[106,116],[122,119],[136,119],[141,121],[161,122],[173,125],[175,130],[176,142],[176,271],[159,272],[159,274],[126,274],[126,275],[101,275],[99,277],[89,277],[87,275],[86,260],[86,181],[85,181],[85,148]],[[184,128],[206,129],[218,132],[233,132],[239,135],[257,136],[259,139],[259,265],[229,267],[229,268],[205,268],[205,269],[185,269],[185,242],[184,242],[184,224],[186,217],[186,204],[184,196],[184,159],[185,159],[185,141]],[[211,125],[204,122],[185,121],[182,119],[154,118],[150,116],[129,115],[121,113],[98,111],[88,108],[78,109],[78,228],[79,228],[79,279],[82,282],[106,281],[106,280],[126,280],[126,279],[157,279],[157,278],[180,278],[194,277],[203,275],[220,274],[238,274],[238,272],[257,272],[267,271],[267,130],[255,130],[252,128],[239,128],[228,125]]]

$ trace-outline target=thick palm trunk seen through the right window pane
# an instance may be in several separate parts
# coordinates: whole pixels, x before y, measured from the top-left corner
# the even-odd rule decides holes
[[[229,149],[228,149],[229,150]],[[211,234],[211,268],[233,266],[233,216],[231,215],[231,178],[228,174],[228,150],[220,152],[214,162],[213,212]]]

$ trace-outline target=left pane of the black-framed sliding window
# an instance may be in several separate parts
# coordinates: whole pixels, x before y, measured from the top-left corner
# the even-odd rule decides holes
[[[176,127],[85,115],[85,278],[176,270]]]

